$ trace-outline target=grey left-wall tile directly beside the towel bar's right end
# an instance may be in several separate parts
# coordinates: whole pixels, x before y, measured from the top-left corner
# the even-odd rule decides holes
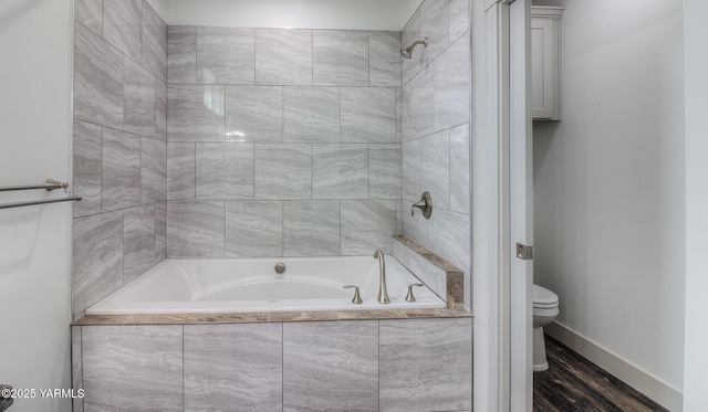
[[[101,213],[101,126],[74,122],[74,218]]]

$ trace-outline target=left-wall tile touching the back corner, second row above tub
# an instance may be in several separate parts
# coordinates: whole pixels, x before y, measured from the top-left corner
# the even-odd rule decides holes
[[[167,200],[167,145],[143,138],[140,199],[143,203]]]

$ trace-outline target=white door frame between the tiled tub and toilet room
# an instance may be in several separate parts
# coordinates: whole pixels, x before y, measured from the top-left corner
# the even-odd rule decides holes
[[[532,228],[512,234],[520,215],[514,210],[512,219],[512,198],[521,204],[512,183],[532,180],[512,180],[511,169],[512,142],[530,144],[530,0],[476,0],[471,14],[473,409],[531,411],[532,265],[516,260],[512,243],[530,244]],[[519,150],[513,155],[517,162]],[[529,160],[530,147],[522,155]]]

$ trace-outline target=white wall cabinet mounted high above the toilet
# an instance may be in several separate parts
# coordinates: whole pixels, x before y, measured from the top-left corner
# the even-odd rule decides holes
[[[561,17],[563,8],[531,8],[531,114],[561,119]]]

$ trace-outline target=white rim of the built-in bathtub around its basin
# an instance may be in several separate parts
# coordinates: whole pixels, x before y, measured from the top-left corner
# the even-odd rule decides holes
[[[334,262],[335,264],[337,264],[339,262],[344,262],[346,263],[346,261],[354,261],[355,264],[361,263],[361,262],[366,262],[368,256],[362,256],[362,255],[356,255],[356,256],[293,256],[293,257],[287,257],[287,256],[279,256],[279,257],[248,257],[248,258],[229,258],[229,257],[205,257],[205,258],[197,258],[197,257],[170,257],[170,258],[166,258],[163,260],[162,262],[159,262],[158,264],[156,264],[155,266],[153,266],[150,270],[146,271],[145,273],[143,273],[140,276],[132,279],[131,282],[126,283],[125,285],[123,285],[121,288],[114,290],[113,293],[111,293],[110,295],[103,297],[102,299],[97,300],[96,303],[92,304],[90,307],[87,307],[82,315],[85,316],[138,316],[138,315],[153,315],[153,316],[158,316],[158,315],[188,315],[188,314],[200,314],[200,315],[206,315],[206,316],[214,316],[214,315],[221,315],[221,314],[238,314],[238,313],[242,313],[242,314],[270,314],[270,313],[324,313],[324,311],[367,311],[367,310],[374,310],[374,311],[379,311],[379,310],[386,310],[386,309],[393,309],[393,310],[406,310],[409,308],[413,309],[442,309],[448,306],[448,303],[446,300],[446,298],[444,296],[439,296],[434,287],[430,287],[429,285],[426,285],[425,287],[425,292],[420,290],[417,294],[417,302],[415,303],[407,303],[404,302],[404,295],[400,294],[399,296],[393,296],[392,295],[392,303],[389,305],[381,305],[378,303],[376,303],[375,300],[372,302],[372,296],[368,296],[366,298],[365,305],[353,305],[351,303],[348,303],[348,296],[347,296],[347,303],[343,303],[342,302],[342,297],[336,297],[336,298],[322,298],[322,299],[279,299],[279,302],[269,302],[268,299],[262,299],[262,298],[257,298],[257,299],[252,299],[252,300],[194,300],[190,299],[189,297],[185,296],[184,299],[173,299],[173,298],[167,298],[167,299],[153,299],[147,298],[147,299],[136,299],[133,300],[133,296],[132,293],[134,293],[134,290],[140,292],[140,288],[138,287],[137,289],[135,289],[135,287],[137,286],[138,283],[143,282],[140,284],[142,285],[146,285],[148,287],[154,287],[154,284],[156,282],[156,279],[159,282],[162,279],[164,279],[165,277],[165,270],[167,271],[176,271],[177,273],[181,274],[183,277],[185,274],[189,274],[189,272],[191,270],[196,271],[196,276],[194,277],[194,279],[196,281],[200,281],[204,279],[204,272],[202,270],[205,267],[209,268],[209,272],[207,272],[207,276],[210,276],[209,273],[211,271],[211,267],[216,268],[216,272],[214,272],[217,276],[217,278],[219,276],[221,276],[219,274],[219,271],[222,271],[222,265],[227,265],[227,267],[229,267],[228,265],[235,264],[236,267],[243,267],[243,270],[248,271],[249,268],[252,270],[253,265],[263,265],[263,263],[270,265],[273,265],[274,263],[280,263],[280,262],[284,262],[287,264],[313,264],[315,265],[327,265],[327,263],[330,262]],[[404,265],[398,258],[396,258],[395,256],[387,254],[386,258],[388,261],[388,270],[394,270],[394,273],[399,273],[403,276],[410,276],[410,279],[405,278],[406,282],[404,282],[404,284],[409,283],[419,283],[423,282],[420,281],[419,276],[417,274],[415,274],[413,271],[410,271],[406,265]],[[373,268],[374,266],[377,266],[377,264],[375,264],[375,262],[371,262],[372,263],[372,268],[371,271],[377,271],[375,268]],[[214,265],[214,266],[212,266]],[[243,265],[243,266],[240,266]],[[366,265],[369,266],[369,265]],[[262,270],[262,267],[259,267],[259,270]],[[300,268],[301,270],[301,268]],[[389,273],[391,274],[391,273]],[[264,277],[262,278],[262,282],[272,282],[273,279],[270,278],[270,276],[272,274],[270,273],[263,273]],[[146,277],[147,276],[147,277]],[[150,276],[156,276],[156,277],[150,277]],[[168,275],[171,276],[171,275]],[[334,281],[332,282],[331,279],[327,278],[322,278],[322,277],[317,277],[317,275],[313,276],[312,278],[310,278],[306,275],[303,275],[302,273],[296,273],[296,274],[292,274],[292,275],[275,275],[277,281],[275,282],[280,282],[280,277],[284,276],[282,279],[289,279],[289,278],[293,278],[293,279],[298,279],[298,282],[311,282],[314,281],[313,284],[314,285],[325,285],[325,286],[332,286],[332,285],[339,285],[340,282]],[[361,285],[362,287],[362,296],[364,295],[364,287],[366,288],[371,288],[372,285],[369,285],[371,282],[373,282],[371,279],[371,276],[374,276],[374,274],[372,272],[369,272],[369,274],[366,276],[367,281],[366,283],[357,283],[354,282],[355,284]],[[190,277],[190,275],[188,275],[187,277]],[[258,274],[256,276],[243,276],[242,278],[238,278],[236,282],[229,283],[227,286],[231,287],[232,285],[239,285],[239,284],[243,284],[243,285],[250,285],[250,284],[254,284],[254,283],[260,283],[261,275],[260,272],[258,272]],[[377,273],[376,273],[376,277],[377,277]],[[342,279],[340,279],[342,281]],[[360,279],[362,281],[362,279]],[[181,281],[183,283],[186,282],[187,284],[189,283],[189,279],[187,281]],[[207,282],[208,283],[208,282]],[[344,282],[344,283],[351,283],[351,282]],[[376,279],[377,283],[377,279]],[[162,283],[160,283],[162,284]],[[185,284],[186,285],[186,284]],[[368,286],[367,286],[368,285]],[[176,293],[183,293],[179,287],[179,283],[176,289]],[[214,286],[214,285],[211,285]],[[217,286],[219,286],[219,283],[217,283]],[[391,282],[389,282],[389,286],[391,286]],[[399,287],[402,285],[398,285]],[[184,286],[183,286],[184,287]],[[123,296],[127,296],[128,299],[124,300],[121,298],[121,293],[125,294],[127,292],[127,295],[123,295]],[[129,290],[129,292],[128,292]],[[202,294],[206,293],[207,295],[211,294],[214,290],[212,289],[206,289],[206,290],[197,290],[198,294]],[[217,290],[218,292],[218,290]],[[399,290],[403,293],[403,290]],[[375,290],[368,290],[368,294],[375,294]],[[420,294],[424,294],[423,296],[420,296]],[[116,296],[117,294],[117,296]],[[343,295],[347,295],[343,294]],[[169,296],[169,293],[168,293]],[[184,308],[179,307],[179,304],[184,304],[186,305]],[[274,304],[274,305],[271,305]],[[118,307],[114,307],[114,305],[117,305]],[[253,305],[254,307],[250,307],[250,305]],[[319,307],[319,305],[324,305],[322,307]],[[272,306],[272,307],[271,307]],[[410,306],[410,307],[408,307]],[[184,310],[180,310],[184,309]],[[312,316],[311,316],[312,317]]]

